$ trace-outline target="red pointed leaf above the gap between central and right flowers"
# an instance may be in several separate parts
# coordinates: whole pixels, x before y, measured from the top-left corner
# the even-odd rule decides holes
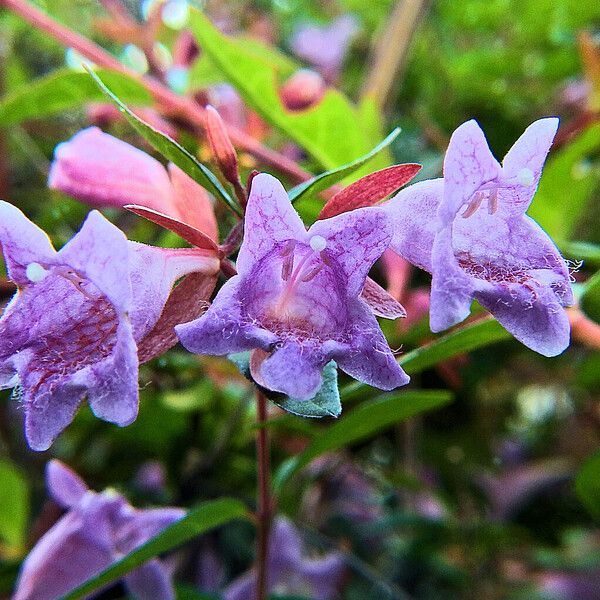
[[[408,183],[420,170],[421,165],[394,165],[365,175],[328,200],[319,219],[335,217],[355,208],[373,206]]]

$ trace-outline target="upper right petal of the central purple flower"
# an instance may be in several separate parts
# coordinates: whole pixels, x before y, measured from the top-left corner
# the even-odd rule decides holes
[[[371,267],[389,246],[392,227],[382,209],[359,208],[317,221],[308,231],[309,240],[314,236],[326,240],[323,253],[341,268],[347,294],[355,297],[363,289]]]

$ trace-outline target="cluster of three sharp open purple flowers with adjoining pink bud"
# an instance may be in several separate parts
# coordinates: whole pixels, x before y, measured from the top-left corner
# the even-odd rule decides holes
[[[367,275],[389,247],[432,274],[433,331],[465,319],[476,299],[528,347],[547,356],[562,352],[569,343],[563,307],[573,302],[568,268],[525,214],[557,126],[554,118],[532,124],[500,165],[469,121],[450,140],[443,179],[411,185],[383,206],[350,210],[308,230],[279,181],[256,176],[237,275],[199,318],[169,315],[171,344],[174,326],[198,354],[252,350],[255,381],[300,401],[314,397],[332,360],[369,385],[405,385],[409,378],[375,318],[385,311],[367,303],[374,285]],[[167,172],[98,129],[57,148],[50,184],[96,205],[142,203],[195,228],[217,248],[204,190],[176,167]],[[131,423],[138,349],[155,332],[178,278],[202,274],[209,282],[203,293],[210,294],[216,250],[129,242],[94,211],[56,252],[37,226],[4,202],[0,243],[18,287],[0,319],[0,386],[18,386],[31,447],[48,448],[84,397],[98,417]]]

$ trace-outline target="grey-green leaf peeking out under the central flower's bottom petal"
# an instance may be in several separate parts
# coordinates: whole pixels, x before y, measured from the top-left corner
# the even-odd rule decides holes
[[[258,385],[250,373],[250,352],[236,352],[227,358],[240,370],[240,373]],[[260,387],[260,386],[259,386]],[[337,384],[337,365],[330,361],[323,369],[323,384],[310,400],[294,400],[283,394],[261,388],[267,398],[283,410],[299,417],[338,417],[342,412],[340,393]]]

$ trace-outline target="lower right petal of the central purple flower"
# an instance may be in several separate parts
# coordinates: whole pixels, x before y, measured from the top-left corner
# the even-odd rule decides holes
[[[333,359],[342,371],[382,390],[393,390],[410,381],[402,370],[379,328],[377,320],[362,300],[349,310],[349,352],[334,353]]]

